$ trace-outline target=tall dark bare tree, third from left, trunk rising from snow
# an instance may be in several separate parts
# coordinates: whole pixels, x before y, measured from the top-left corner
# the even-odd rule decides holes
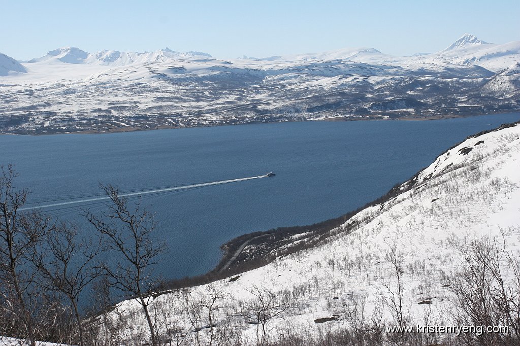
[[[152,276],[151,267],[164,249],[164,242],[152,238],[155,230],[153,215],[141,209],[140,201],[130,205],[112,185],[100,185],[110,197],[108,212],[94,215],[85,212],[87,220],[101,234],[106,247],[118,256],[115,266],[103,264],[110,283],[125,296],[133,297],[142,307],[148,323],[152,346],[158,344],[149,307],[155,299],[153,290],[158,281]]]

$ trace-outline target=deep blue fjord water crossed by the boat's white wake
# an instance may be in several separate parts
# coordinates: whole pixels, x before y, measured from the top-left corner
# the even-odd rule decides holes
[[[292,122],[105,135],[0,136],[0,164],[15,164],[29,206],[94,230],[80,216],[99,212],[99,182],[124,193],[276,172],[141,196],[155,211],[168,251],[167,278],[214,267],[219,246],[238,235],[319,222],[388,191],[476,132],[520,120],[498,114],[435,121]],[[138,198],[131,195],[128,198]],[[83,203],[62,204],[78,199]],[[58,204],[58,205],[57,205]]]

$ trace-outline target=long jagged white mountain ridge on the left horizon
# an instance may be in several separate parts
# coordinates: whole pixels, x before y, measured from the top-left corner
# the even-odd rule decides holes
[[[181,53],[171,50],[168,47],[154,52],[144,53],[104,49],[93,54],[89,54],[76,47],[63,47],[51,50],[41,58],[29,60],[28,63],[60,61],[71,64],[124,66],[139,62],[164,62],[168,59],[197,56],[211,57],[211,55],[203,52],[189,51]]]

